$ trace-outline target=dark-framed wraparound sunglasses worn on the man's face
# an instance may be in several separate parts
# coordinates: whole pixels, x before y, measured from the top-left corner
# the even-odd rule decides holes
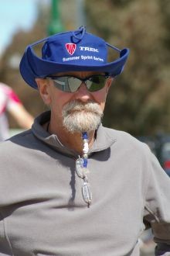
[[[52,79],[54,86],[63,92],[76,92],[80,86],[86,85],[89,92],[97,92],[104,88],[107,78],[110,76],[104,74],[92,75],[88,78],[77,78],[76,76],[48,76],[47,78]]]

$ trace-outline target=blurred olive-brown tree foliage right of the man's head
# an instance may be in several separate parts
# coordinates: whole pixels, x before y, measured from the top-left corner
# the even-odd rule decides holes
[[[169,132],[168,28],[160,1],[93,0],[86,8],[93,32],[131,50],[124,73],[108,95],[104,124],[134,135]]]

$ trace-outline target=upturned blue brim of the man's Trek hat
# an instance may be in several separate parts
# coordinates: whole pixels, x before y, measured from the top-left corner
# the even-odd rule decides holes
[[[34,53],[32,46],[27,47],[25,54],[19,65],[22,78],[32,88],[37,89],[36,78],[46,78],[49,74],[56,74],[69,71],[98,71],[104,72],[112,76],[121,74],[124,69],[124,64],[127,61],[129,49],[124,48],[120,51],[120,57],[107,64],[100,64],[95,66],[87,66],[80,64],[58,63],[53,61],[46,61]]]

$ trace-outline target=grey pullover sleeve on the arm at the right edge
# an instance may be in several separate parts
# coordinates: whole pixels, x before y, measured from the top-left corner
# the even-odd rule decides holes
[[[144,223],[151,226],[155,247],[155,255],[170,254],[170,178],[150,154],[150,177],[145,200]]]

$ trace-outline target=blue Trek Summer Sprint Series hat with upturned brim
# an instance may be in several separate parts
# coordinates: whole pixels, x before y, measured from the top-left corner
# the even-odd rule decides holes
[[[42,46],[42,57],[33,50],[37,44]],[[119,58],[107,62],[108,47],[119,53]],[[75,31],[58,33],[36,43],[30,44],[20,62],[22,78],[32,88],[37,88],[35,78],[68,71],[98,71],[113,77],[121,74],[128,58],[129,50],[119,50],[98,36],[86,32],[81,26]]]

